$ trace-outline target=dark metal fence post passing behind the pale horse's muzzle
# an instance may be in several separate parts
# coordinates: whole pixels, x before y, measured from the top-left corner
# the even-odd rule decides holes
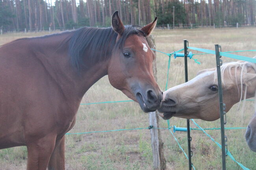
[[[188,81],[188,74],[187,74],[187,46],[188,41],[184,40],[184,61],[185,61],[185,82]],[[189,170],[192,170],[192,163],[191,163],[191,142],[192,138],[190,136],[190,122],[189,119],[187,119],[187,145],[188,145],[188,161],[189,161]]]

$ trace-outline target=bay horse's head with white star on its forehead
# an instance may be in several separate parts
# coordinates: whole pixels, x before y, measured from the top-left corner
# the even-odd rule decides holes
[[[148,46],[149,36],[156,20],[141,29],[124,26],[115,12],[112,27],[118,33],[115,47],[108,65],[111,85],[139,102],[144,112],[160,108],[162,92],[153,75],[154,53]]]

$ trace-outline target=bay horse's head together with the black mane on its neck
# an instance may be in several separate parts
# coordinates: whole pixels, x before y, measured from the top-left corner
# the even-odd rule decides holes
[[[88,72],[100,64],[113,87],[139,102],[144,112],[155,111],[161,106],[162,91],[154,79],[155,55],[147,38],[156,26],[156,19],[138,29],[124,26],[116,11],[112,16],[112,27],[78,29],[69,43],[73,65],[81,72]]]

